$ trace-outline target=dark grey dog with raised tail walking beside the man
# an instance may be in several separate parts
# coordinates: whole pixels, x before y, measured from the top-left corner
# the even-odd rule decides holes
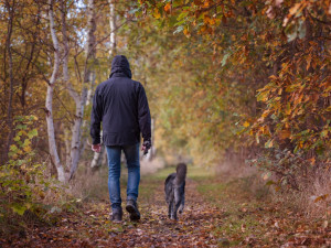
[[[185,204],[185,179],[188,166],[184,163],[177,165],[177,173],[168,175],[164,182],[166,202],[169,206],[168,217],[178,220],[177,212],[183,213]]]

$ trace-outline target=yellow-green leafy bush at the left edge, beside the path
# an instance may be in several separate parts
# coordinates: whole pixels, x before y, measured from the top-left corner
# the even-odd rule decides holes
[[[57,191],[44,175],[45,164],[36,161],[32,148],[38,137],[34,120],[34,116],[15,117],[14,143],[10,147],[8,162],[0,168],[0,224],[4,224],[4,228],[10,228],[7,225],[15,220],[20,224],[26,215],[41,217],[46,211],[41,204],[45,192]]]

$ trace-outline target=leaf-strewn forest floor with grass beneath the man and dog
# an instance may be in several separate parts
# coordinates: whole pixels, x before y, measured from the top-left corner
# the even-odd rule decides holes
[[[268,201],[267,187],[252,190],[253,176],[225,180],[189,168],[184,213],[170,220],[163,181],[173,171],[141,177],[139,223],[127,213],[120,224],[109,220],[104,182],[102,198],[61,213],[54,225],[0,237],[0,247],[331,247],[325,219]]]

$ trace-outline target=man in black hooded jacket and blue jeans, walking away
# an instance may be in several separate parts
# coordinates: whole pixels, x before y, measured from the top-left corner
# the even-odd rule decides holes
[[[151,147],[151,120],[145,89],[131,79],[128,60],[117,55],[111,62],[111,73],[107,80],[97,86],[90,116],[92,150],[100,152],[100,123],[103,143],[108,155],[108,188],[114,222],[122,218],[120,198],[120,154],[124,151],[128,166],[127,205],[131,220],[139,220],[137,206],[140,181],[139,145],[140,132],[145,153]]]

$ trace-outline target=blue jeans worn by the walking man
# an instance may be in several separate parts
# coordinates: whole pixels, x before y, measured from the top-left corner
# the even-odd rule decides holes
[[[110,145],[106,147],[108,155],[108,188],[113,212],[121,208],[120,198],[120,154],[125,153],[128,166],[127,200],[137,201],[140,182],[140,143],[132,145]]]

